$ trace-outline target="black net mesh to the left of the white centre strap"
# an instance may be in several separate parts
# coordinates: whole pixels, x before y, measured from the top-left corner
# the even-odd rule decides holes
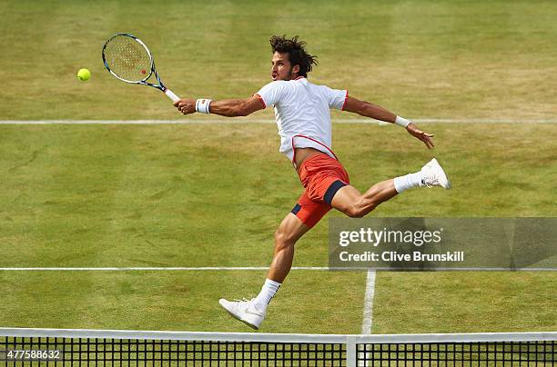
[[[35,358],[10,351],[47,351]],[[57,351],[57,352],[56,352]],[[16,358],[17,357],[17,358]],[[1,362],[4,361],[4,362]],[[346,366],[342,343],[0,337],[8,366]]]

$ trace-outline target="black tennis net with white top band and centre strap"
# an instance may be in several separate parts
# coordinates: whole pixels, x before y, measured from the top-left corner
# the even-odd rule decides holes
[[[0,328],[6,366],[553,366],[557,332],[312,335]]]

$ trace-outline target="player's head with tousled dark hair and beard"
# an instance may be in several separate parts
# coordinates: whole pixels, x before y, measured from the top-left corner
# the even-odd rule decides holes
[[[311,65],[318,64],[317,56],[309,55],[304,49],[306,43],[298,39],[298,35],[291,39],[286,38],[286,35],[271,37],[270,44],[273,50],[271,77],[273,80],[307,77],[311,71]]]

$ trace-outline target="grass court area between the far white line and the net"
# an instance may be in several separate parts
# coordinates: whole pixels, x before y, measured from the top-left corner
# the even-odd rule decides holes
[[[360,190],[419,169],[433,153],[451,174],[451,192],[410,191],[373,215],[554,216],[557,126],[493,127],[424,124],[437,134],[430,152],[395,126],[339,124],[335,150]],[[3,266],[266,266],[272,233],[301,192],[272,124],[3,125],[0,136]],[[295,265],[327,265],[327,227],[297,244]],[[263,279],[0,272],[0,324],[246,331],[217,300],[255,295]],[[555,280],[379,273],[373,331],[552,330]],[[360,332],[364,288],[365,273],[293,271],[264,331]]]

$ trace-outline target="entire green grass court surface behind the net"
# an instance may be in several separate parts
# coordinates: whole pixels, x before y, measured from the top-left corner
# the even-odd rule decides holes
[[[551,1],[11,1],[0,11],[0,120],[186,119],[157,90],[104,70],[102,45],[123,31],[149,45],[182,96],[257,92],[268,38],[287,34],[319,56],[311,81],[409,118],[528,123],[557,112]],[[334,144],[360,190],[433,154],[451,175],[451,192],[409,191],[372,215],[555,216],[556,126],[423,124],[436,134],[430,152],[393,126],[338,124]],[[0,266],[266,266],[301,193],[278,147],[273,124],[0,125]],[[327,264],[327,226],[297,244],[295,265]],[[0,272],[0,326],[245,332],[217,300],[255,295],[264,276]],[[293,271],[263,331],[359,333],[365,279]],[[378,273],[373,332],[555,330],[556,281]]]

